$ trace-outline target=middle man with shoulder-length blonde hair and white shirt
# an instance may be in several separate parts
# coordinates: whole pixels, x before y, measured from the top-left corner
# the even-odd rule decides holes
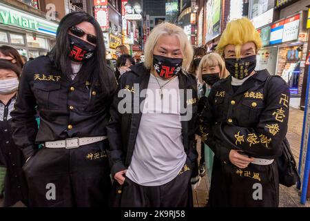
[[[144,64],[122,75],[110,111],[113,206],[192,206],[197,83],[185,71],[192,46],[182,28],[161,23],[144,53]],[[128,101],[126,95],[125,104],[123,93],[132,97]],[[134,112],[137,104],[141,108]]]

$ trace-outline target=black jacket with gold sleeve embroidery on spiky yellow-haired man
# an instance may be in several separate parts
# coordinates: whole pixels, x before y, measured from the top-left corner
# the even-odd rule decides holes
[[[231,149],[265,159],[282,153],[289,119],[289,86],[280,77],[271,77],[265,86],[268,77],[267,70],[260,70],[235,93],[231,77],[227,77],[214,84],[205,99],[198,134],[222,162],[229,162]]]

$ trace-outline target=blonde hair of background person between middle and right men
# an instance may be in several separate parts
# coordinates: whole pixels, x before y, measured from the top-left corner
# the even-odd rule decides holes
[[[211,52],[205,56],[200,61],[198,66],[198,80],[199,82],[203,82],[203,68],[209,68],[219,66],[220,68],[220,79],[226,78],[228,76],[228,72],[225,68],[225,62],[218,53]]]

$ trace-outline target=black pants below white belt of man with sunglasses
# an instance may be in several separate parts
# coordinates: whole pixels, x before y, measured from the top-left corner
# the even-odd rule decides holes
[[[106,146],[104,141],[40,150],[23,166],[29,205],[107,206],[112,185]]]

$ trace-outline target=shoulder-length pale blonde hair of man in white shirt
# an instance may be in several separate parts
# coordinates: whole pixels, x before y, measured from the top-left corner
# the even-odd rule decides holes
[[[182,28],[167,22],[158,24],[149,34],[149,38],[147,39],[144,48],[144,66],[147,69],[152,69],[154,47],[162,35],[176,35],[176,37],[178,37],[183,55],[182,68],[184,70],[188,70],[193,59],[192,45],[189,43],[187,35],[185,35],[185,32]]]

